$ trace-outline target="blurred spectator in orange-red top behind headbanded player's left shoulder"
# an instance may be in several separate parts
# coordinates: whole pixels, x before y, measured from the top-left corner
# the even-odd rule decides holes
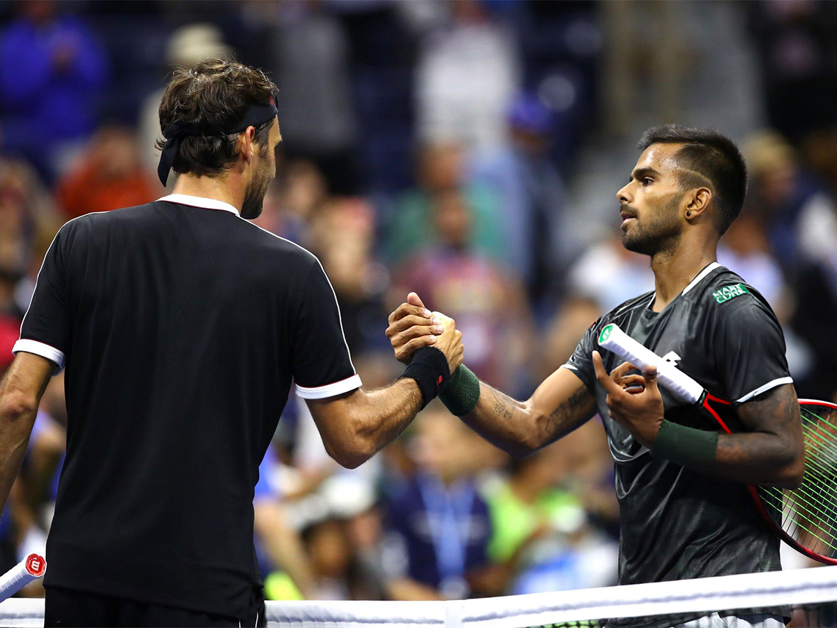
[[[90,212],[148,203],[157,193],[136,152],[136,137],[124,126],[103,126],[85,156],[58,183],[66,219]]]

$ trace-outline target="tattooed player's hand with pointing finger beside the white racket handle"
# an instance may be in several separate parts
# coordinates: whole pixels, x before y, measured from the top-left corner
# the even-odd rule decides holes
[[[639,369],[624,362],[608,375],[598,351],[593,352],[593,368],[598,383],[608,394],[606,403],[610,418],[628,430],[641,445],[651,449],[665,412],[663,397],[657,388],[657,369],[648,367],[642,375],[629,375],[630,371]]]

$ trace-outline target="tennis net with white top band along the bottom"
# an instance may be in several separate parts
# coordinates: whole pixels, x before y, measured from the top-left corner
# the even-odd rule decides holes
[[[734,625],[724,617],[765,613],[792,617],[791,628],[837,626],[837,566],[482,600],[267,605],[269,626],[292,628],[656,627],[686,621],[696,621],[689,628],[718,628]],[[43,600],[6,600],[0,604],[0,626],[44,625],[43,614]]]

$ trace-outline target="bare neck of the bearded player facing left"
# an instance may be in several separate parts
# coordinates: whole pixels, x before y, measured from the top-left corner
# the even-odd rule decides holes
[[[654,271],[655,298],[653,311],[663,311],[695,277],[717,260],[717,241],[714,239],[681,239],[673,250],[651,257]]]

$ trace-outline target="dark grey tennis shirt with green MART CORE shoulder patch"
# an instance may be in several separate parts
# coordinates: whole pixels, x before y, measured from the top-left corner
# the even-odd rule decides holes
[[[596,396],[614,456],[621,517],[619,584],[781,569],[778,538],[759,517],[744,485],[654,458],[609,417],[591,353],[601,353],[608,373],[622,363],[598,346],[599,332],[615,322],[736,406],[792,383],[782,328],[767,301],[717,263],[702,270],[663,311],[652,311],[653,301],[649,292],[601,317],[565,365]],[[684,408],[664,387],[660,390],[666,419],[718,430],[700,410]]]

